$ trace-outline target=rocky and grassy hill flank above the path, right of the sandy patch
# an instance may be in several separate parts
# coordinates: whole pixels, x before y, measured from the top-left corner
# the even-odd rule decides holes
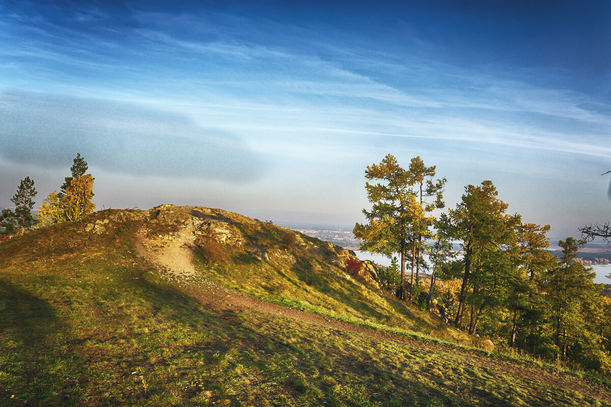
[[[347,272],[354,253],[345,248],[220,209],[161,206],[151,217],[148,247],[163,251],[176,240],[192,245],[202,278],[292,308],[469,341],[382,293],[375,272]]]

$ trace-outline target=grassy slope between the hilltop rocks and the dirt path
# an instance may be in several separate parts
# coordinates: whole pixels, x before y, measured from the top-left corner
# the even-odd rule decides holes
[[[224,264],[209,265],[201,258],[197,261],[207,278],[271,303],[365,326],[398,328],[453,343],[474,345],[472,337],[462,331],[372,289],[368,276],[349,275],[345,270],[295,248],[271,253],[279,256],[260,261],[233,250],[230,261]],[[289,255],[296,259],[295,264],[282,257]]]

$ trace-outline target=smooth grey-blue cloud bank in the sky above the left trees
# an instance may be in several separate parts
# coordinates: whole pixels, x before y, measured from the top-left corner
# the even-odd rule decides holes
[[[79,152],[105,170],[140,176],[246,182],[265,171],[265,157],[237,137],[129,104],[4,92],[0,123],[0,154],[11,162],[59,167]]]

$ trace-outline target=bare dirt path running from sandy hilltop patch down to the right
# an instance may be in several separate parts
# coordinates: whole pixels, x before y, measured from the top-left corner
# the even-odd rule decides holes
[[[145,239],[141,237],[136,247],[141,256],[161,265],[166,271],[166,278],[178,281],[190,294],[197,297],[202,303],[209,304],[218,310],[256,309],[258,312],[269,312],[282,315],[314,325],[335,328],[350,333],[364,334],[376,340],[390,340],[398,344],[414,346],[426,351],[444,351],[449,354],[460,353],[467,360],[478,366],[486,366],[499,372],[507,378],[524,377],[532,381],[547,384],[553,387],[563,387],[579,392],[586,397],[598,398],[611,403],[611,389],[602,384],[582,380],[567,373],[538,367],[524,362],[487,356],[475,350],[452,347],[451,345],[436,344],[434,342],[411,337],[400,336],[384,331],[364,328],[335,319],[323,317],[312,312],[287,308],[265,301],[257,300],[249,295],[241,294],[226,287],[220,286],[208,279],[202,278],[193,262],[193,249],[195,236],[194,228],[183,229],[180,233],[168,236]],[[144,235],[144,232],[141,232]]]

